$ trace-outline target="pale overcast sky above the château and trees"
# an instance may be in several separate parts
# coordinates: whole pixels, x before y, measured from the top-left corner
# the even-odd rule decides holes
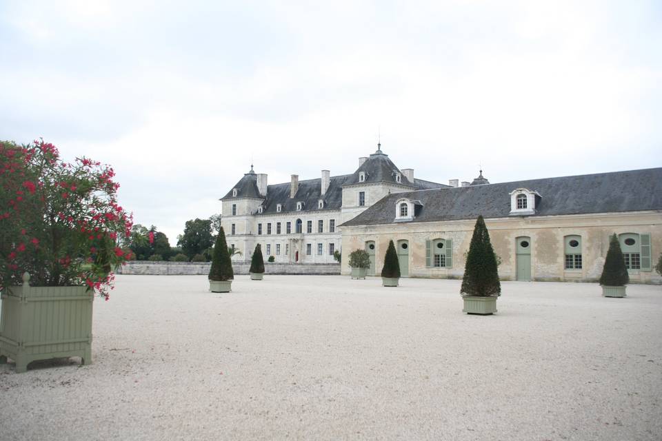
[[[317,3],[317,4],[314,4]],[[171,245],[243,173],[662,163],[662,2],[2,1],[0,139],[109,163]]]

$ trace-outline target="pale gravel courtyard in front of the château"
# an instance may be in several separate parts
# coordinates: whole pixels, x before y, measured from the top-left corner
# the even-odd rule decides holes
[[[662,287],[118,276],[94,364],[0,365],[2,440],[660,440]]]

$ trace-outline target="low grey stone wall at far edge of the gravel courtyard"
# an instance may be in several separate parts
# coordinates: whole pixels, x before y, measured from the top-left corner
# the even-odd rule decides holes
[[[151,262],[133,260],[117,269],[117,274],[146,274],[154,276],[181,276],[209,274],[210,262]],[[250,262],[232,262],[234,274],[248,274]],[[265,274],[340,274],[338,263],[264,263]]]

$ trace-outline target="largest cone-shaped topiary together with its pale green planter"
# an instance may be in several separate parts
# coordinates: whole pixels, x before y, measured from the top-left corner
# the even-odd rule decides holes
[[[501,296],[501,283],[496,254],[483,216],[478,216],[469,245],[460,294],[463,312],[489,316],[496,312],[496,298]]]

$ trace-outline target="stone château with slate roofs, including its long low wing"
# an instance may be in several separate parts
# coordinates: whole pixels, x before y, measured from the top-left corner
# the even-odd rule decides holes
[[[403,277],[461,278],[474,223],[483,215],[503,280],[594,281],[609,238],[619,236],[632,283],[662,283],[662,168],[448,185],[414,178],[381,151],[352,174],[268,185],[250,172],[221,198],[228,245],[248,258],[257,243],[281,263],[343,262],[370,254],[379,275],[389,240]],[[350,268],[341,265],[341,273]]]

